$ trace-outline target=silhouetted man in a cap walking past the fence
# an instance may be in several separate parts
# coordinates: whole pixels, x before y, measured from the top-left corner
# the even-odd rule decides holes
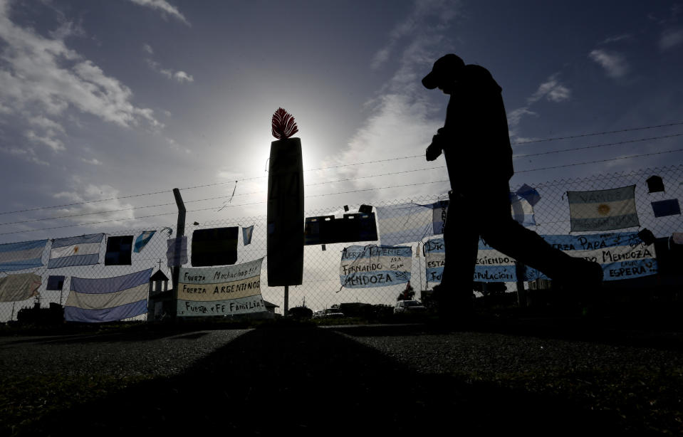
[[[427,147],[427,161],[443,152],[451,183],[444,226],[446,260],[437,293],[439,310],[467,315],[479,237],[489,246],[541,270],[563,285],[597,288],[598,263],[553,248],[511,214],[512,147],[501,87],[489,70],[465,65],[454,54],[439,58],[422,79],[427,89],[450,95],[444,127]]]

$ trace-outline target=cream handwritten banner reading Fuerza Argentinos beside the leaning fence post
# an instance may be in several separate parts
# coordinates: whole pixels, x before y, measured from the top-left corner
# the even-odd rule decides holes
[[[178,315],[234,315],[266,310],[261,296],[264,258],[219,268],[180,268]]]

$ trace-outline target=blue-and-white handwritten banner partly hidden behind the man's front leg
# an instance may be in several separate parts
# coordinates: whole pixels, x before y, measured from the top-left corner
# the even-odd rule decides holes
[[[433,238],[424,243],[424,258],[427,262],[427,282],[440,283],[444,273],[446,247],[443,238]],[[479,282],[516,282],[515,260],[496,249],[486,246],[479,238],[473,280]]]

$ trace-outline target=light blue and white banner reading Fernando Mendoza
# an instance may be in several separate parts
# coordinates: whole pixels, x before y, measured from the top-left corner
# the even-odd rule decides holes
[[[342,251],[339,280],[345,288],[386,287],[410,281],[411,268],[410,246],[348,246]]]

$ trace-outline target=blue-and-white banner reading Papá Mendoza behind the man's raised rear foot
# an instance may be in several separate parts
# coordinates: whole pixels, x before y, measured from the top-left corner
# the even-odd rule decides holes
[[[544,235],[543,239],[569,256],[600,263],[604,280],[640,278],[657,273],[655,245],[642,242],[637,232],[593,235]],[[538,270],[527,268],[525,280],[547,279]]]

